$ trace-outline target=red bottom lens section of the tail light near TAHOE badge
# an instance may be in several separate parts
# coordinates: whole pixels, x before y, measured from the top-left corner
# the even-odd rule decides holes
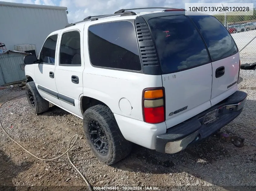
[[[144,107],[144,119],[147,123],[161,123],[165,121],[165,108]]]

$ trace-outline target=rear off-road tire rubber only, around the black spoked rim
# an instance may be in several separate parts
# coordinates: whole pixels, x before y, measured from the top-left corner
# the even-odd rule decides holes
[[[90,120],[95,120],[105,131],[108,140],[108,151],[102,155],[94,147],[88,130]],[[107,165],[115,164],[128,156],[131,152],[132,143],[122,135],[112,111],[104,105],[95,105],[88,108],[83,116],[83,127],[86,141],[95,156]]]

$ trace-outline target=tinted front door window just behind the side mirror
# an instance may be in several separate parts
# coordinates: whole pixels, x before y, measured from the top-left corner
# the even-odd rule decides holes
[[[45,40],[40,53],[40,62],[55,63],[55,50],[57,44],[58,35],[53,35]]]

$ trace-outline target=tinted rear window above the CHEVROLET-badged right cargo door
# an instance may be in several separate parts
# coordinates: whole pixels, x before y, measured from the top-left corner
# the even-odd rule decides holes
[[[226,58],[238,52],[231,35],[215,17],[210,15],[189,17],[200,30],[212,61]]]

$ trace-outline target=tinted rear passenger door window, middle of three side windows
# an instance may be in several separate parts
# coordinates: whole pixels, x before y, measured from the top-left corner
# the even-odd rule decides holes
[[[60,47],[60,64],[81,65],[80,33],[63,33]]]

